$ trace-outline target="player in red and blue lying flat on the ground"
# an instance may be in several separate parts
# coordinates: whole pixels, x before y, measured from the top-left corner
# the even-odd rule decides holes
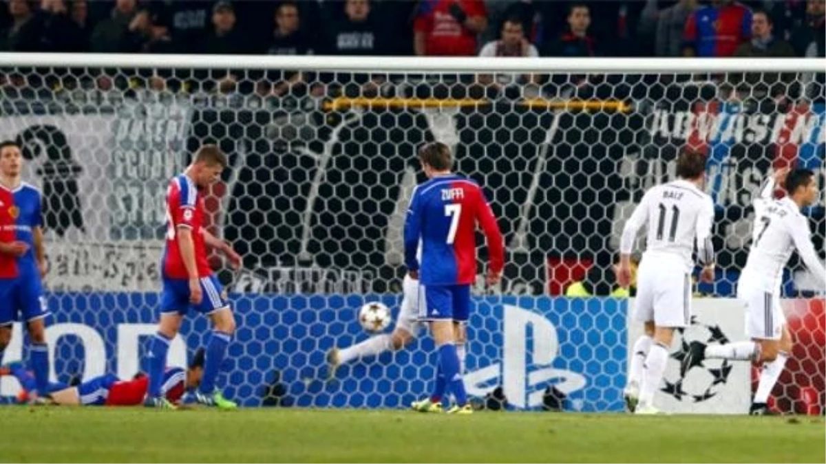
[[[169,367],[164,372],[161,394],[173,405],[180,403],[184,393],[194,391],[200,385],[203,365],[204,350],[201,348],[186,370]],[[34,375],[20,363],[0,367],[0,376],[14,376],[20,382],[21,395],[18,395],[18,401],[25,402],[28,392],[35,388]],[[131,380],[121,380],[109,373],[93,377],[77,386],[52,383],[45,399],[54,405],[137,406],[143,404],[149,382],[149,377],[143,373]]]

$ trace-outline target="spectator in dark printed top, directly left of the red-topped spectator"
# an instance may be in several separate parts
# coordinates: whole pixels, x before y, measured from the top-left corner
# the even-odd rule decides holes
[[[334,12],[323,50],[328,54],[384,54],[381,21],[371,14],[368,0],[344,2],[344,16]]]

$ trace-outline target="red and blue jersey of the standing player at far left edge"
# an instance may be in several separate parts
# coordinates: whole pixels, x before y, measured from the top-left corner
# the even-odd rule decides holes
[[[0,253],[0,279],[40,276],[32,234],[43,225],[40,211],[40,191],[35,187],[26,182],[13,190],[0,185],[0,242],[29,244],[26,254],[19,257]]]

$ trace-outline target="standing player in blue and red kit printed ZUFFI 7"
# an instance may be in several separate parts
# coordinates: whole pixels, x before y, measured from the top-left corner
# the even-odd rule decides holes
[[[487,239],[488,285],[499,282],[505,247],[482,187],[452,173],[449,147],[441,142],[425,144],[419,150],[419,161],[429,180],[415,188],[407,210],[405,264],[410,276],[420,279],[419,319],[430,323],[439,365],[433,395],[411,406],[420,412],[439,412],[442,397],[452,391],[456,404],[448,412],[471,414],[457,342],[465,339],[464,324],[470,316],[477,224]]]

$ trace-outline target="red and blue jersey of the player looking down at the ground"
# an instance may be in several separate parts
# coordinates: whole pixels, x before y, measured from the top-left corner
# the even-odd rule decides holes
[[[169,182],[166,193],[166,248],[164,249],[164,277],[187,279],[189,274],[183,265],[181,250],[178,248],[178,228],[192,230],[195,246],[195,264],[198,277],[209,277],[212,269],[207,259],[202,225],[204,221],[204,201],[195,182],[185,174],[180,174]]]

